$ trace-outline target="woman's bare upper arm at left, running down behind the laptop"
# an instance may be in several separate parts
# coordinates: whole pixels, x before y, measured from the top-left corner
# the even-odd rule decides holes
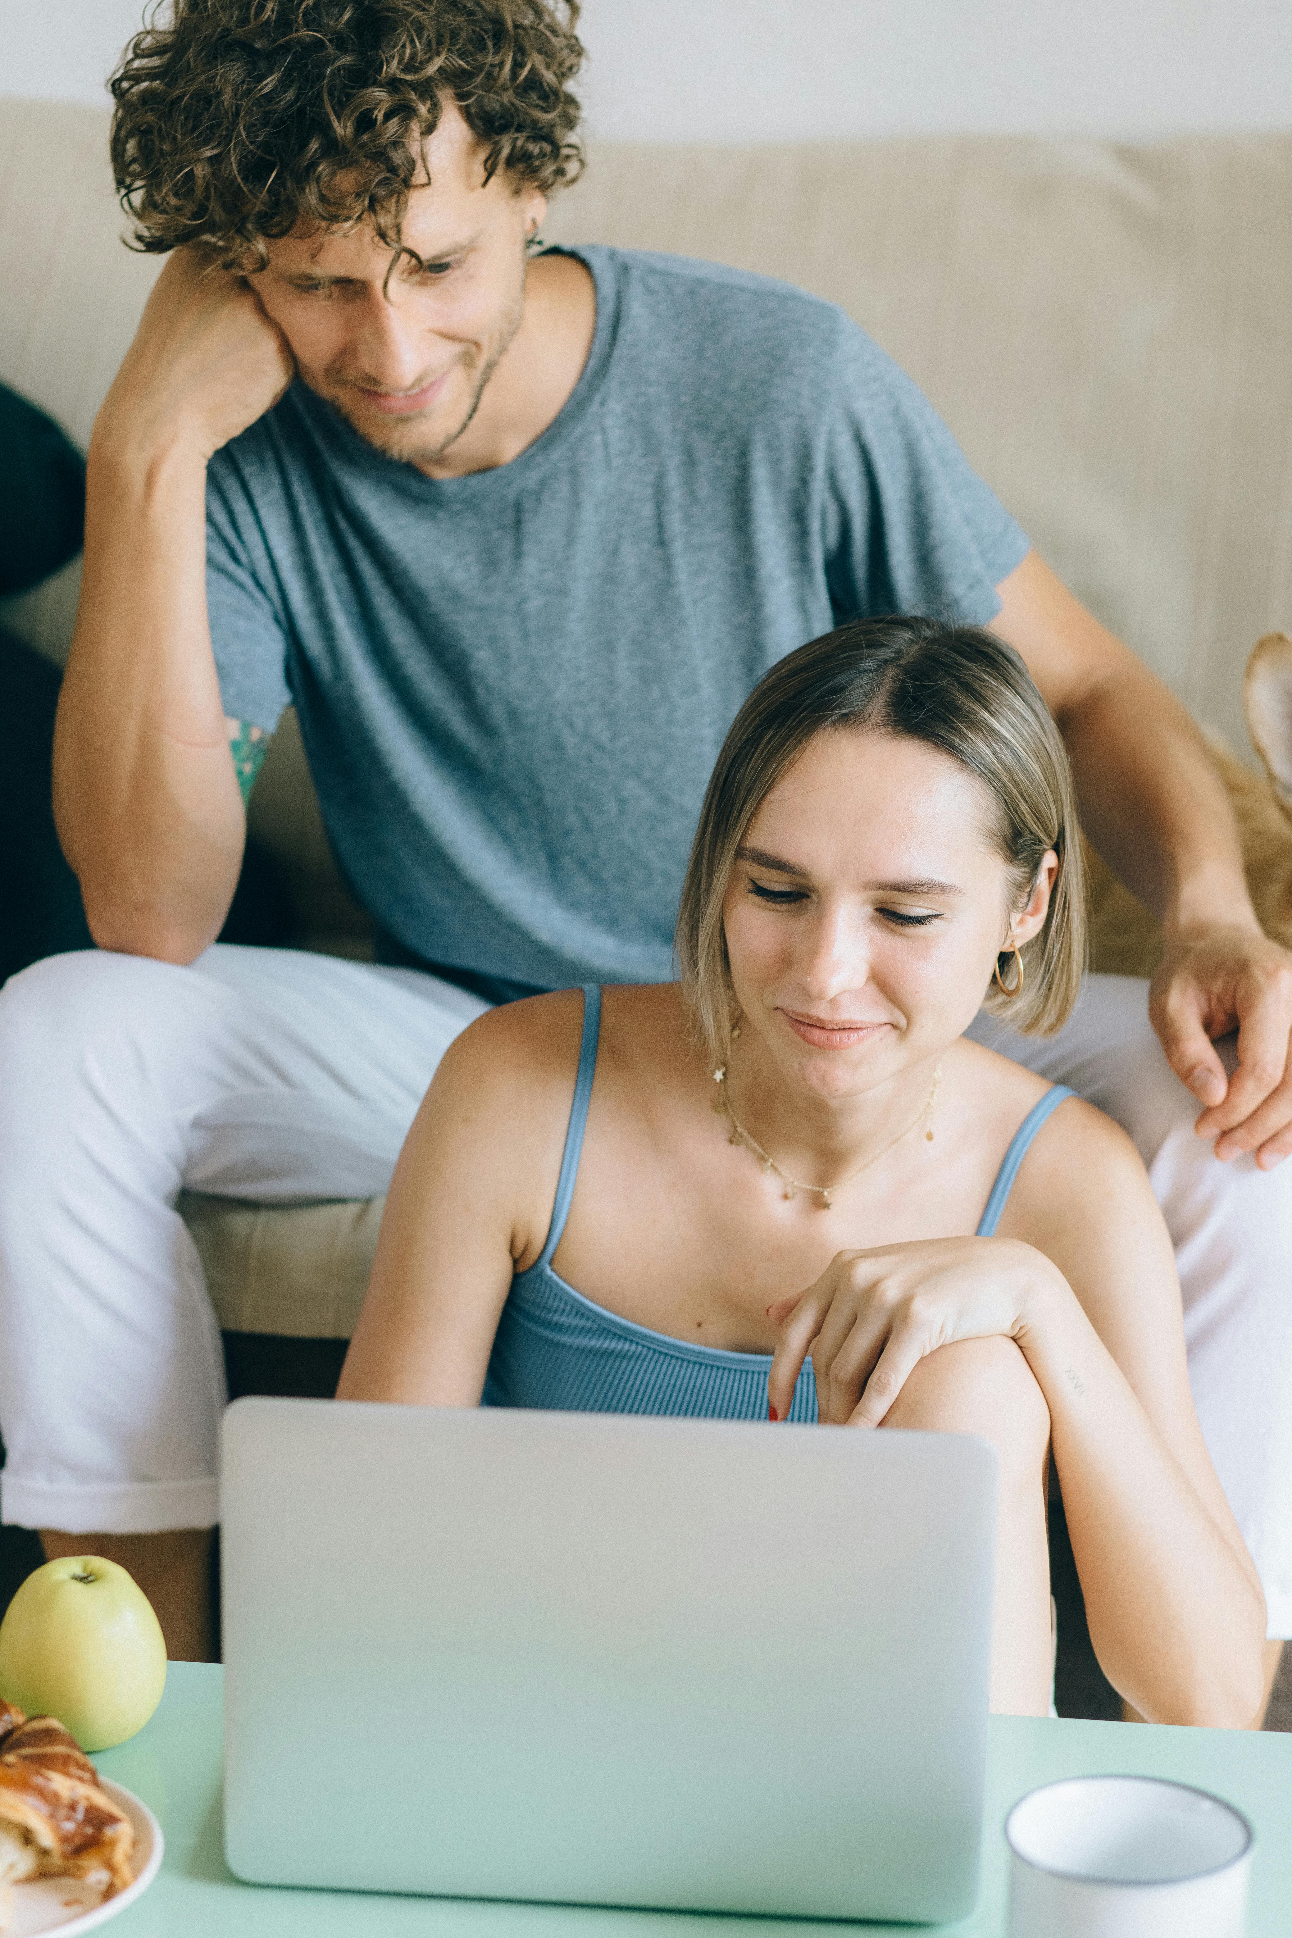
[[[562,992],[449,1045],[395,1165],[337,1399],[480,1403],[511,1273],[552,1217],[581,1025]]]

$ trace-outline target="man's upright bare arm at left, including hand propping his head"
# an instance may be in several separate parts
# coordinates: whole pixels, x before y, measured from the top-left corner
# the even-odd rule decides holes
[[[205,467],[291,382],[256,297],[178,250],[95,422],[54,814],[101,948],[192,961],[246,818],[205,607]]]

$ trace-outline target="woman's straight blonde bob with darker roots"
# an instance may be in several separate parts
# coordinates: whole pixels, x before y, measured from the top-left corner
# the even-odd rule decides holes
[[[1071,1016],[1085,969],[1085,870],[1067,750],[1013,647],[976,626],[872,618],[779,661],[736,715],[719,754],[678,909],[678,973],[693,1023],[726,1064],[734,994],[723,901],[759,806],[815,735],[870,727],[936,746],[982,783],[986,833],[1023,909],[1048,849],[1060,859],[1044,928],[1023,944],[1023,992],[992,979],[986,1008],[1029,1035]],[[858,746],[858,760],[864,760]],[[1003,911],[1001,911],[1003,913]],[[1017,981],[1011,952],[998,957]]]

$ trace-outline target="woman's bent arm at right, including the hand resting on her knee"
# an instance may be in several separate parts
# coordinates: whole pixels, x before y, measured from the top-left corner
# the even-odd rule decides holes
[[[1067,1103],[1015,1192],[1011,1236],[841,1254],[786,1300],[771,1403],[784,1417],[812,1349],[821,1419],[877,1426],[926,1353],[1015,1339],[1050,1407],[1104,1672],[1151,1721],[1246,1727],[1265,1603],[1193,1413],[1174,1258],[1143,1167],[1116,1126]]]

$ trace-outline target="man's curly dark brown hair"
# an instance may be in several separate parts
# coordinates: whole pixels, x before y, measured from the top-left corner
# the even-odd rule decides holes
[[[298,221],[370,219],[393,250],[451,97],[486,178],[544,194],[583,151],[579,0],[174,0],[112,78],[112,169],[134,240],[267,264]]]

